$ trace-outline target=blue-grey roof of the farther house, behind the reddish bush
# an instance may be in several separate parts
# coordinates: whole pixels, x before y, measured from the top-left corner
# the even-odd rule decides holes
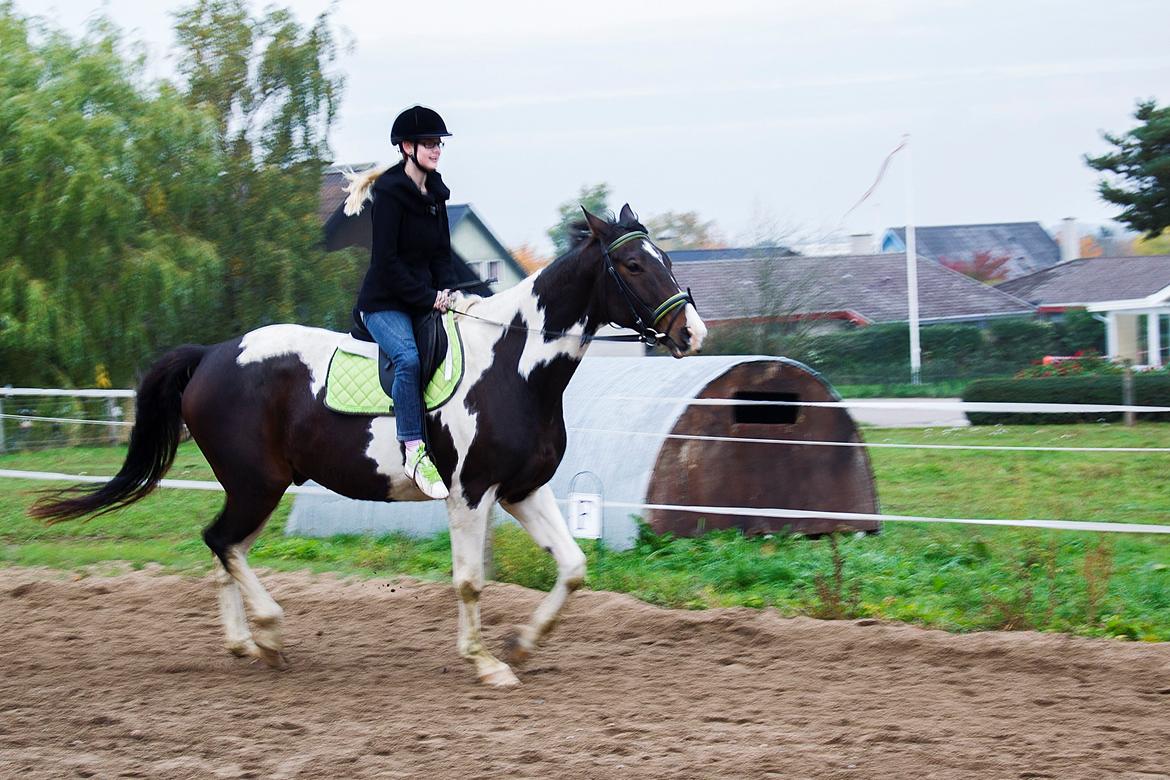
[[[916,251],[935,261],[971,260],[977,251],[1011,257],[1009,278],[1032,274],[1060,262],[1060,247],[1039,222],[937,225],[914,229]],[[906,250],[906,228],[889,228],[883,251]]]

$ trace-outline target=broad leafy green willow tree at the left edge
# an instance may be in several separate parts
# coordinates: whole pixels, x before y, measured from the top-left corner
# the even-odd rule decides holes
[[[104,20],[74,42],[4,4],[0,49],[0,375],[129,382],[174,332],[211,334],[214,129],[150,94]]]

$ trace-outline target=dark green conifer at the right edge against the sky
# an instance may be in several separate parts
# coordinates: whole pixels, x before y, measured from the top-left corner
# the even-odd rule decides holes
[[[1170,228],[1170,106],[1141,102],[1134,118],[1141,124],[1123,136],[1102,133],[1115,151],[1086,156],[1085,161],[1113,174],[1101,180],[1097,192],[1123,207],[1117,220],[1152,237]]]

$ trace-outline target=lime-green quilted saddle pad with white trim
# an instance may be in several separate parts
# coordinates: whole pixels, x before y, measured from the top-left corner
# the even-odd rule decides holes
[[[450,400],[463,379],[463,341],[454,312],[442,318],[447,331],[447,356],[422,388],[422,403],[433,412]],[[394,401],[378,381],[378,360],[340,348],[333,350],[325,375],[325,406],[342,414],[394,414]]]

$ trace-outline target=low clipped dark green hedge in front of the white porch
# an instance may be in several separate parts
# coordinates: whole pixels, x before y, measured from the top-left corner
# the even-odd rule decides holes
[[[1113,377],[1046,377],[1044,379],[979,379],[963,391],[964,401],[996,401],[1000,403],[1122,403],[1122,378]],[[1170,407],[1170,374],[1134,375],[1136,406]],[[1081,414],[1023,414],[1003,412],[968,412],[973,426],[1025,426],[1072,422],[1116,422],[1120,412]],[[1170,422],[1170,412],[1138,414],[1138,420]]]

